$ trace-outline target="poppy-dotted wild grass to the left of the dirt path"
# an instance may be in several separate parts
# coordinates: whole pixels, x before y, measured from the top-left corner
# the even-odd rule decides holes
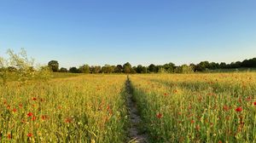
[[[80,76],[0,88],[3,142],[123,142],[125,76]]]

